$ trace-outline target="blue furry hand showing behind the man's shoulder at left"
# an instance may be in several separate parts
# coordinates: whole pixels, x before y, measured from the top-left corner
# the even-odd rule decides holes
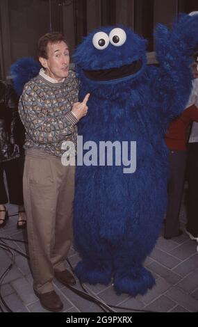
[[[31,57],[20,58],[11,65],[10,72],[13,75],[13,86],[17,95],[22,94],[26,82],[33,79],[40,71],[41,65]]]

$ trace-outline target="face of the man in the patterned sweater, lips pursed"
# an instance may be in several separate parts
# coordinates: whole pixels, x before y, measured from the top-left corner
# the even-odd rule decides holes
[[[69,72],[69,49],[64,41],[48,43],[47,59],[39,58],[45,73],[56,81],[67,77]]]

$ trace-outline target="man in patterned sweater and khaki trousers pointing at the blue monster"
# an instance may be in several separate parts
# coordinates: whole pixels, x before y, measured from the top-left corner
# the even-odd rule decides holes
[[[78,102],[78,85],[69,71],[63,35],[42,36],[38,58],[43,68],[26,83],[19,99],[26,129],[24,205],[33,288],[42,306],[57,312],[63,303],[53,289],[53,276],[64,285],[76,282],[65,267],[72,243],[75,167],[62,165],[61,145],[64,141],[76,145],[76,124],[88,112],[89,94]]]

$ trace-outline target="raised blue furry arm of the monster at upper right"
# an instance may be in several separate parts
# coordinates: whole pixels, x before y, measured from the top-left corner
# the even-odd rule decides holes
[[[192,88],[190,64],[198,47],[198,15],[180,14],[172,31],[158,24],[154,33],[160,64],[153,87],[167,124],[179,115]]]

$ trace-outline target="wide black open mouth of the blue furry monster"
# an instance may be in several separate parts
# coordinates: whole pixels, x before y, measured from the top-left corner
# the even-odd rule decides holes
[[[142,68],[142,60],[133,61],[130,65],[108,70],[84,70],[85,76],[93,81],[110,81],[134,75]]]

